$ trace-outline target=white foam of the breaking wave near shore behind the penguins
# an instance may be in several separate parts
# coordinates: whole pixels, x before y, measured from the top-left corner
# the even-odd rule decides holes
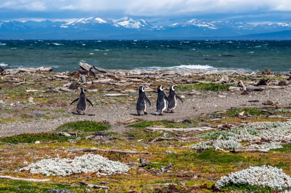
[[[141,67],[136,68],[135,70],[143,69],[143,70],[209,70],[213,69],[213,66],[210,65],[176,65],[169,67],[160,67],[160,66],[152,66],[152,67]]]

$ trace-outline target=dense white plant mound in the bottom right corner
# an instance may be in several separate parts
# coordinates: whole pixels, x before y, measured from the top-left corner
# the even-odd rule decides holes
[[[249,167],[248,169],[221,177],[217,181],[216,187],[221,189],[229,184],[238,186],[258,185],[274,190],[286,190],[291,187],[291,177],[287,176],[282,169],[263,165],[261,167]]]

